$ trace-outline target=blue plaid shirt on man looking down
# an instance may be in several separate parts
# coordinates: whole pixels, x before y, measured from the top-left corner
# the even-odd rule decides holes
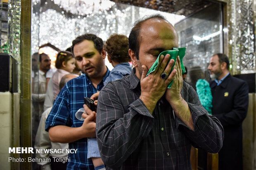
[[[70,127],[80,127],[83,121],[76,119],[75,113],[83,107],[84,97],[90,97],[103,87],[103,82],[109,76],[109,69],[102,81],[97,85],[97,89],[92,85],[89,78],[83,74],[78,78],[73,78],[62,88],[52,107],[50,115],[47,117],[45,129],[49,126],[64,125]],[[76,154],[69,154],[71,161],[68,162],[67,169],[91,169],[94,170],[91,159],[87,159],[87,138],[82,138],[69,143],[69,149],[78,149]]]

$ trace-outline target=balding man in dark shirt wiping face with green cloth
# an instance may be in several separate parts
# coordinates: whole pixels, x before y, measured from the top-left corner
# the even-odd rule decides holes
[[[185,48],[178,48],[173,25],[160,14],[136,21],[129,48],[132,73],[109,82],[98,98],[96,135],[106,169],[191,170],[191,145],[218,152],[223,127],[183,82]]]

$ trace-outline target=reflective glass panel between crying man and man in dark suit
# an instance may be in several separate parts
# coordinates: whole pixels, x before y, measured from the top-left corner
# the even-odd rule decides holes
[[[187,47],[184,65],[186,81],[195,89],[199,78],[209,79],[208,63],[215,53],[223,52],[221,5],[213,4],[175,24],[179,44]]]

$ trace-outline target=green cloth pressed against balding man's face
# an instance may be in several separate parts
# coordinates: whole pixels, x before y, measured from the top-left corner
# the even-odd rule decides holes
[[[181,64],[182,74],[186,73],[185,66],[184,66],[184,64],[183,64],[183,57],[184,57],[185,54],[186,54],[186,47],[181,47],[181,48],[173,47],[173,50],[166,50],[166,51],[161,52],[161,53],[158,55],[156,61],[154,62],[154,64],[152,65],[152,67],[151,67],[151,68],[149,69],[149,71],[147,72],[147,76],[148,76],[150,73],[152,73],[152,72],[154,72],[154,71],[156,70],[157,66],[159,65],[159,57],[160,57],[161,55],[164,55],[164,56],[165,56],[166,54],[170,54],[170,56],[171,56],[170,59],[169,59],[169,61],[170,61],[171,59],[174,60],[173,67],[174,67],[174,65],[175,65],[177,56],[180,56],[180,64]],[[173,67],[172,67],[171,71],[173,71]],[[173,84],[173,80],[171,81],[171,83],[168,85],[167,88],[171,88],[171,85],[172,85],[172,84]]]

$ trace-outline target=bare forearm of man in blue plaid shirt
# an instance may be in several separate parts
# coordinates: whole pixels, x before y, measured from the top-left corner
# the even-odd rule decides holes
[[[84,133],[82,126],[69,127],[69,126],[58,125],[58,126],[50,127],[49,137],[52,142],[70,143],[82,138],[86,138],[87,136]]]

